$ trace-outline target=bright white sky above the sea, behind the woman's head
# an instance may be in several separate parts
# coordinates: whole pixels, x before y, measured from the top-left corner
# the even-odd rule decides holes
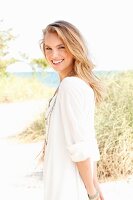
[[[16,36],[10,55],[40,58],[42,29],[56,20],[84,36],[97,70],[133,69],[132,0],[0,0],[0,19]]]

